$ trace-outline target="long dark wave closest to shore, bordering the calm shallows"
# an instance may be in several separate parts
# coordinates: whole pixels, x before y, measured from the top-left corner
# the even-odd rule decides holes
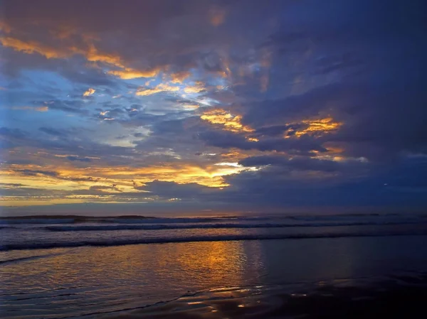
[[[316,238],[340,238],[340,237],[386,237],[386,236],[427,236],[427,232],[384,232],[384,233],[332,233],[332,234],[238,234],[217,235],[203,237],[172,237],[172,238],[147,238],[147,239],[117,239],[110,241],[80,241],[80,242],[40,242],[33,244],[4,244],[0,251],[23,249],[52,249],[68,247],[111,247],[130,244],[167,244],[179,242],[229,242],[241,240],[269,240],[269,239],[316,239]]]

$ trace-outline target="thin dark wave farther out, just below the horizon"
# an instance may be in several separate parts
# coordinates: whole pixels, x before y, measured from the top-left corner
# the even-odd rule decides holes
[[[338,226],[381,226],[381,225],[411,225],[419,222],[322,222],[305,224],[187,224],[187,225],[78,225],[78,226],[47,226],[40,227],[51,232],[75,232],[75,231],[112,231],[112,230],[161,230],[161,229],[229,229],[229,228],[287,228],[287,227],[338,227]]]

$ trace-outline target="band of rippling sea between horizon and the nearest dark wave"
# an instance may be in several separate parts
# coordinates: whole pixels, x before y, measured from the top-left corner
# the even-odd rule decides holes
[[[247,239],[427,234],[426,215],[1,219],[0,251]]]

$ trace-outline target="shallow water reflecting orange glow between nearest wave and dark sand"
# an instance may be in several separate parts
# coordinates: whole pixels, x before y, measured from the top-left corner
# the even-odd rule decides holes
[[[108,313],[224,287],[427,269],[423,236],[280,239],[9,252],[2,318]],[[26,259],[23,259],[26,258]]]

